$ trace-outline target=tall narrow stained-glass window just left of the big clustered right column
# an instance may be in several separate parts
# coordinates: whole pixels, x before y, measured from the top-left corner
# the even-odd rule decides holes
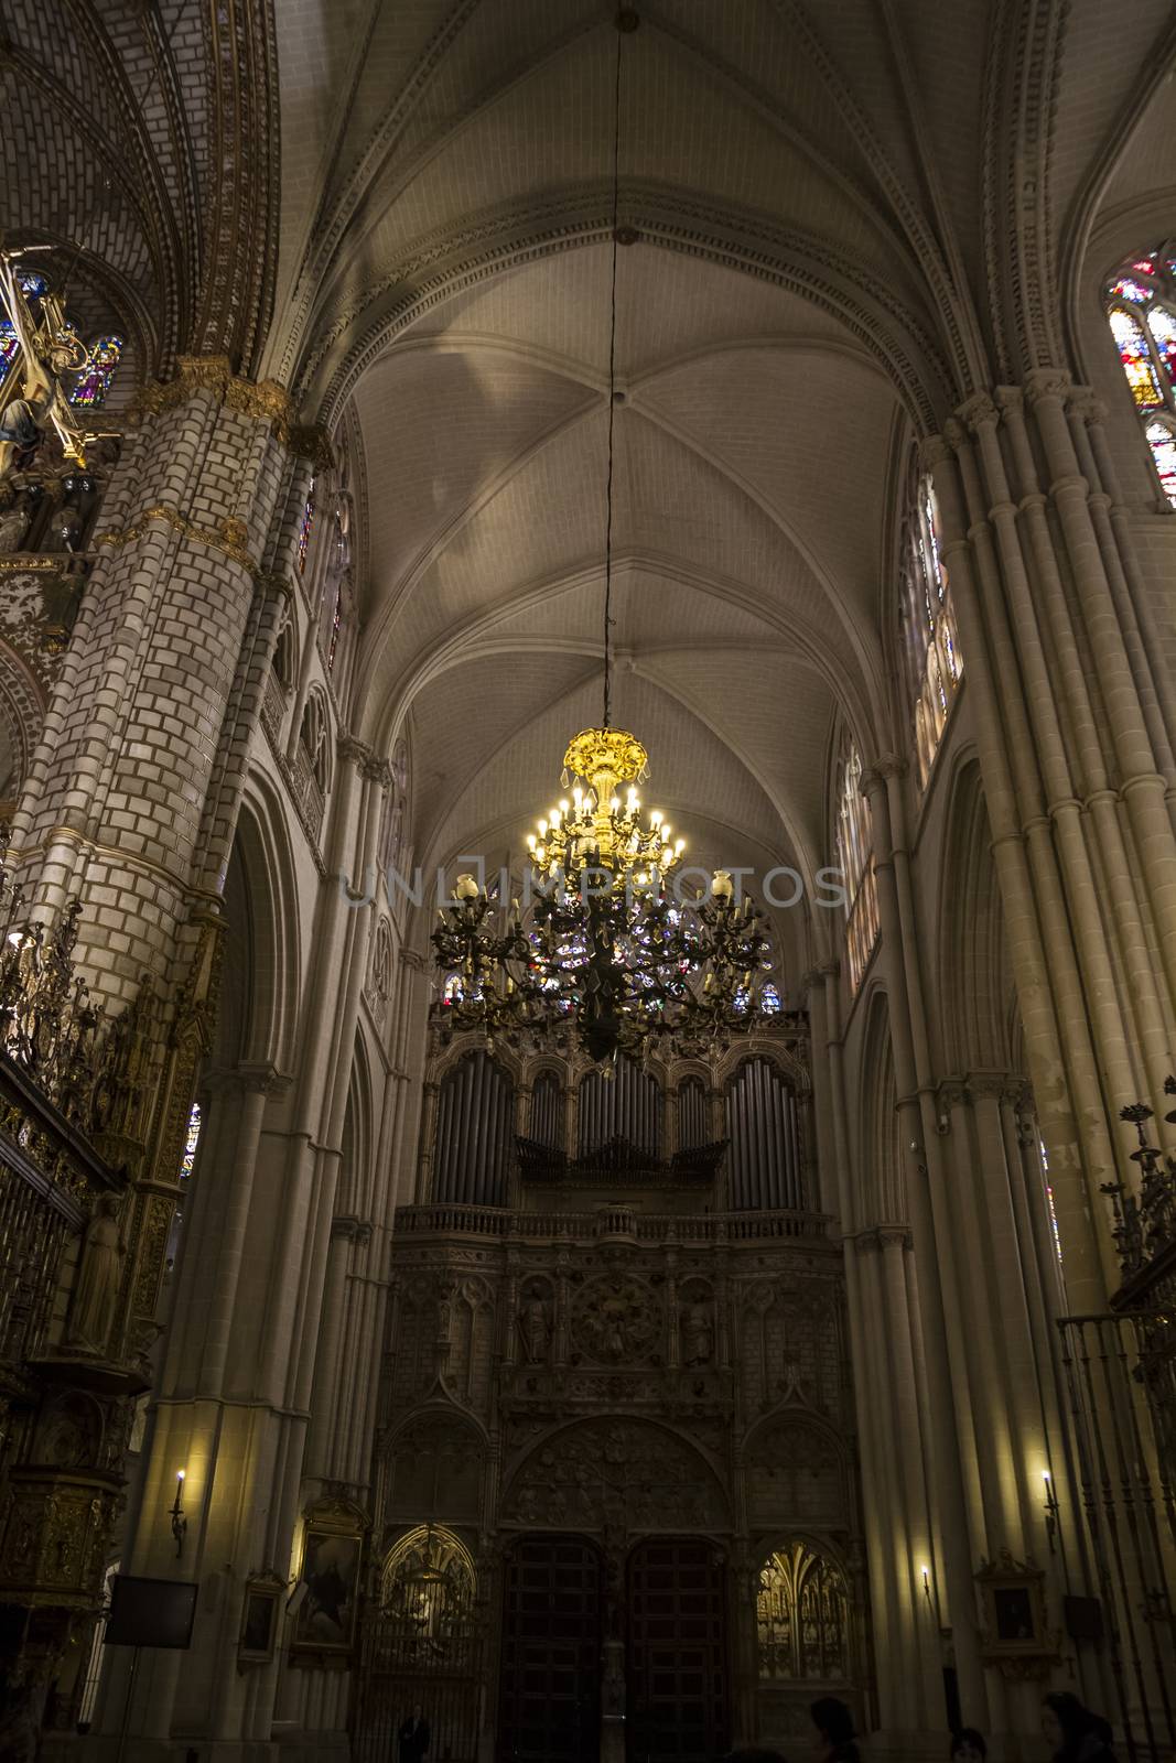
[[[947,564],[940,554],[934,488],[927,472],[917,469],[913,457],[899,559],[899,651],[919,783],[926,785],[963,675],[963,658]]]

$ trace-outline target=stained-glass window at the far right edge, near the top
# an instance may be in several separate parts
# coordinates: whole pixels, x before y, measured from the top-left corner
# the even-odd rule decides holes
[[[1160,490],[1176,508],[1176,242],[1130,257],[1105,301]]]

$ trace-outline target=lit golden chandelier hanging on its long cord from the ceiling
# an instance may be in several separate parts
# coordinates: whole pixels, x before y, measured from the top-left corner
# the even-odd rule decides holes
[[[434,1021],[541,1044],[575,1031],[592,1060],[640,1060],[668,1037],[679,1051],[746,1033],[767,1014],[762,977],[772,947],[762,911],[742,901],[726,869],[689,903],[674,887],[686,841],[658,811],[645,820],[636,785],[647,753],[612,726],[612,480],[617,360],[617,243],[621,242],[621,49],[636,12],[617,14],[612,164],[612,298],[608,331],[608,472],[605,485],[605,693],[599,728],[564,753],[569,795],[527,837],[525,903],[502,903],[473,876],[432,934],[444,975]],[[635,234],[624,229],[628,243]],[[772,1008],[779,1008],[778,994]]]

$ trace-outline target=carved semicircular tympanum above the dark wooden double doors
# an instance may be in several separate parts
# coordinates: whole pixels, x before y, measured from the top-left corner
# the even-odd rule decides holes
[[[647,1421],[568,1426],[524,1460],[502,1502],[506,1523],[540,1529],[726,1529],[716,1476],[675,1433]]]

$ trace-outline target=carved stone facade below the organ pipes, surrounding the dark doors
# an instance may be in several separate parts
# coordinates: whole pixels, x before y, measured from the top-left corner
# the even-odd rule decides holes
[[[756,1636],[760,1574],[804,1539],[848,1588],[859,1629],[836,1684],[866,1705],[841,1250],[816,1215],[783,1243],[769,1218],[742,1215],[735,1232],[723,1215],[642,1215],[638,1241],[601,1239],[592,1215],[508,1213],[487,1243],[476,1220],[455,1232],[444,1206],[400,1215],[372,1574],[420,1527],[469,1550],[487,1613],[483,1744],[504,1574],[522,1539],[545,1536],[589,1539],[605,1587],[658,1539],[714,1544],[735,1724],[776,1733],[802,1726],[816,1691]],[[624,1606],[615,1597],[607,1618],[621,1647]]]

